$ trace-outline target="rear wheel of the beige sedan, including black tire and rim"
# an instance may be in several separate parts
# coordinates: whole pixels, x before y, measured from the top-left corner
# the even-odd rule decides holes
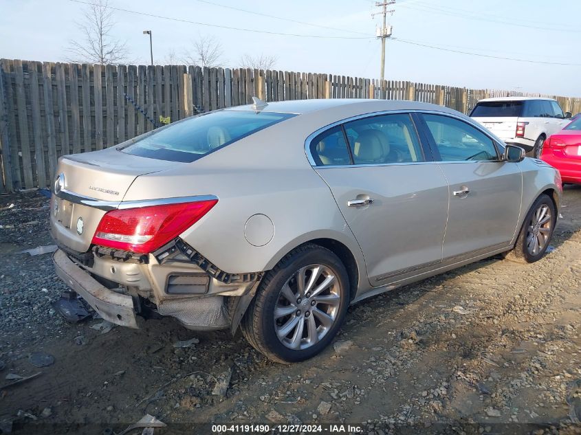
[[[349,276],[338,256],[303,245],[267,272],[244,315],[242,333],[273,361],[303,361],[331,342],[349,299]]]

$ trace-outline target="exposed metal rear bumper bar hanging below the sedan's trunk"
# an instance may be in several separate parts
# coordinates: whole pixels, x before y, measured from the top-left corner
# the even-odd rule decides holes
[[[54,252],[52,260],[58,278],[80,294],[103,319],[121,326],[138,328],[130,295],[122,295],[102,286],[73,263],[61,249]]]

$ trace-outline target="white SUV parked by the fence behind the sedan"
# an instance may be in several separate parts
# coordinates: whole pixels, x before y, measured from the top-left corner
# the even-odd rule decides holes
[[[559,103],[550,98],[501,97],[480,100],[470,117],[507,144],[538,158],[547,137],[567,125],[571,113],[563,114]]]

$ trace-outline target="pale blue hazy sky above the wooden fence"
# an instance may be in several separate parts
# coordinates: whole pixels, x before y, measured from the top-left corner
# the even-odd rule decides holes
[[[276,69],[379,78],[380,41],[373,36],[380,17],[371,18],[371,12],[378,10],[374,3],[109,0],[109,5],[116,8],[173,19],[311,35],[245,32],[115,11],[113,35],[127,42],[129,57],[138,63],[149,63],[149,38],[142,30],[151,29],[156,63],[166,63],[172,51],[180,58],[191,47],[191,41],[199,36],[212,36],[223,47],[222,63],[227,67],[239,67],[243,54],[267,54],[276,56]],[[69,41],[80,38],[76,22],[82,19],[87,5],[71,0],[0,0],[0,8],[0,57],[56,62],[67,60]],[[397,0],[393,8],[395,13],[390,19],[393,37],[402,41],[393,39],[387,43],[388,80],[581,96],[581,1]]]

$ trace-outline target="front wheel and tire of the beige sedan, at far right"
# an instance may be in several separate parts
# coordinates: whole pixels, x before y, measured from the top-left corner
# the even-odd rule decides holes
[[[556,222],[555,204],[548,195],[541,194],[527,213],[514,249],[506,252],[505,258],[517,263],[540,260],[551,242]]]

